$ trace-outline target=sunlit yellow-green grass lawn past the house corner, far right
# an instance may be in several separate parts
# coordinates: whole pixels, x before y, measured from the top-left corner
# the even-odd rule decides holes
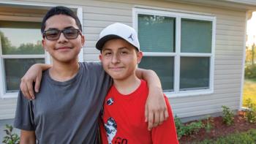
[[[252,99],[252,102],[256,104],[256,79],[244,80],[244,95],[243,106],[245,105],[245,99]]]

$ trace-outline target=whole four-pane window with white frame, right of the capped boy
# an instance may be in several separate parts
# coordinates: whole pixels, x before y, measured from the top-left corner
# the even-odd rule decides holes
[[[139,67],[159,75],[168,96],[213,91],[215,18],[134,9],[143,59]]]

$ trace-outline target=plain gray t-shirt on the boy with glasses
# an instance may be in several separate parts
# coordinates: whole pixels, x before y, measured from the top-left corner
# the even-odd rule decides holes
[[[97,118],[112,84],[100,63],[79,63],[78,74],[59,82],[43,72],[36,99],[19,92],[14,126],[35,131],[38,143],[98,143]]]

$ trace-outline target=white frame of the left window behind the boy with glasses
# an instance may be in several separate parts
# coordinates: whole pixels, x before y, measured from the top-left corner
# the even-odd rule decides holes
[[[38,9],[45,9],[50,7],[55,7],[57,5],[53,4],[24,4],[24,2],[0,2],[0,4],[3,5],[14,5],[18,7],[37,7]],[[82,25],[83,29],[83,7],[77,7],[77,6],[66,6],[72,9],[77,10],[78,19],[80,20],[80,23]],[[33,17],[23,17],[23,16],[2,16],[0,15],[0,20],[15,20],[15,21],[31,21],[31,22],[41,22],[42,18],[33,18]],[[0,39],[1,40],[1,39]],[[84,47],[84,46],[83,46]],[[0,98],[1,99],[12,99],[17,98],[18,92],[6,92],[6,83],[5,83],[5,75],[4,75],[4,61],[3,58],[45,58],[45,64],[50,64],[50,55],[48,52],[45,51],[45,54],[42,55],[2,55],[1,53],[1,42],[0,42]],[[79,61],[83,62],[83,48],[80,49],[80,53],[78,54]]]

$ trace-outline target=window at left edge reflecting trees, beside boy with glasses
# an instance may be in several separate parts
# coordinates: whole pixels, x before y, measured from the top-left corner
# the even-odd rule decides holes
[[[45,63],[41,23],[0,20],[1,84],[4,94],[17,92],[20,77],[35,63]]]

